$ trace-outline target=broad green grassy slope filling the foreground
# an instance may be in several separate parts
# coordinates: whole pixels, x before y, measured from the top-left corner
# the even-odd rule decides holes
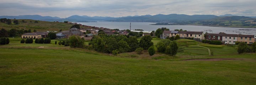
[[[233,55],[235,53],[231,53],[233,52],[231,49],[234,47],[209,47],[216,56],[208,56],[205,48],[180,46],[184,51],[178,52],[176,61],[172,61],[171,56],[160,54],[159,56],[170,57],[169,60],[156,61],[114,57],[54,44],[19,44],[20,39],[10,40],[10,45],[0,45],[0,85],[254,85],[256,83],[256,54]],[[37,46],[45,46],[45,48],[37,49]],[[218,51],[224,51],[226,54]],[[185,55],[190,56],[184,57]],[[192,58],[234,60],[181,61]]]

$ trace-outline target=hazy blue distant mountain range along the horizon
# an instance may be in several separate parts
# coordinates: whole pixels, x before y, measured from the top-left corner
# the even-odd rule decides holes
[[[20,16],[0,16],[0,18],[10,18],[10,19],[34,19],[40,21],[70,21],[70,22],[87,22],[87,21],[111,21],[111,22],[169,22],[169,21],[196,21],[196,20],[209,20],[209,19],[229,19],[230,16],[236,16],[231,14],[225,14],[220,16],[215,15],[183,15],[183,14],[170,14],[170,15],[143,15],[143,16],[126,16],[126,17],[100,17],[100,16],[78,16],[73,15],[68,18],[59,18],[51,16],[40,16],[40,15],[20,15]],[[226,17],[226,18],[223,18]],[[234,19],[241,18],[256,18],[256,17],[244,17],[236,16],[232,17]]]

